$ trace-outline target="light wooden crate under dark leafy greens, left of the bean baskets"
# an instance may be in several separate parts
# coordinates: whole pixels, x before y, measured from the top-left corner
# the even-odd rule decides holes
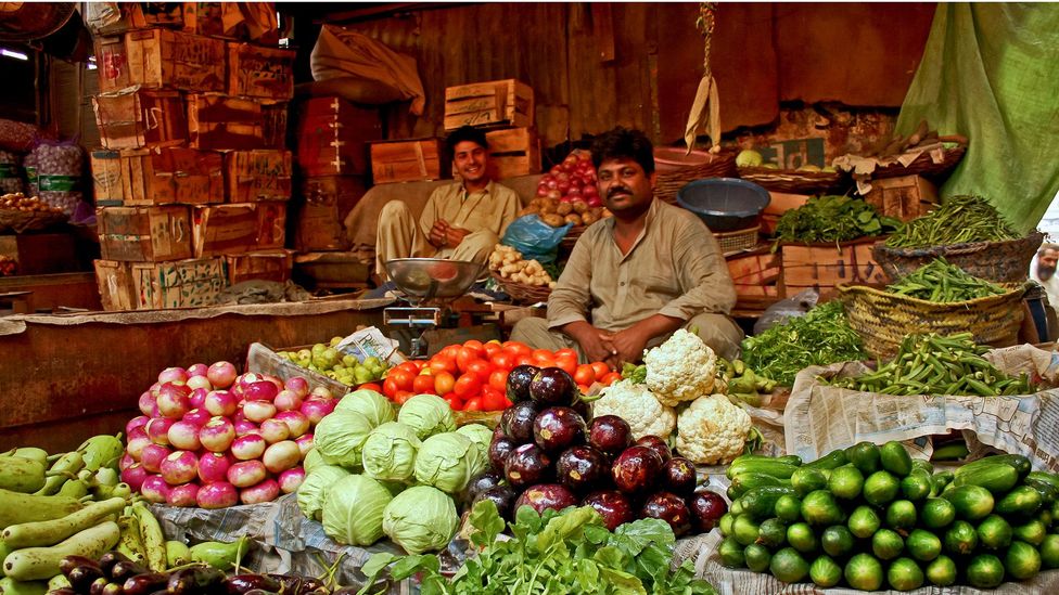
[[[787,296],[809,287],[833,295],[840,283],[884,283],[882,268],[871,256],[879,237],[834,244],[783,244],[781,282]]]

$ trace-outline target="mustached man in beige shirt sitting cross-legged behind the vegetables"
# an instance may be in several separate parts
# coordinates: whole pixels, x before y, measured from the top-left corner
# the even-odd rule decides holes
[[[738,354],[728,316],[736,289],[716,238],[693,214],[654,199],[654,150],[615,128],[592,145],[599,195],[613,214],[577,241],[548,298],[548,318],[523,319],[512,340],[573,347],[583,361],[637,362],[680,327],[715,352]]]

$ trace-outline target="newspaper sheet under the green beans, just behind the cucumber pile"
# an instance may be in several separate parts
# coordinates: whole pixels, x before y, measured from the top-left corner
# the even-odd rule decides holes
[[[1057,385],[1059,358],[1052,352],[1022,345],[985,357],[1007,374],[1029,372],[1041,386]],[[992,447],[1030,457],[1035,469],[1059,470],[1059,389],[1018,397],[896,397],[835,388],[818,379],[867,371],[850,362],[799,373],[783,414],[788,453],[815,461],[865,440],[898,440],[913,456],[928,458],[933,452],[930,435],[962,430],[972,457]]]

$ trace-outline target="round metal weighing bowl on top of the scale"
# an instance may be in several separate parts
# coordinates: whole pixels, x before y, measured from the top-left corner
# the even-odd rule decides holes
[[[444,258],[395,258],[386,274],[409,301],[448,301],[464,294],[485,270],[481,262]]]

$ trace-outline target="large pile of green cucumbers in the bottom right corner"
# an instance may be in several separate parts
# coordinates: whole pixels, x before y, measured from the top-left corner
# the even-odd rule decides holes
[[[1059,568],[1059,476],[1022,455],[934,473],[899,442],[860,442],[804,465],[742,456],[728,477],[728,568],[862,591],[994,588]]]

